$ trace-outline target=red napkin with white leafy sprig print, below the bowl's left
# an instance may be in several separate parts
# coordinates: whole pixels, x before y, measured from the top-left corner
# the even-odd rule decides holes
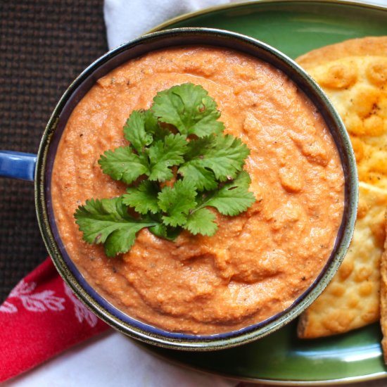
[[[47,258],[0,305],[0,382],[106,329]]]

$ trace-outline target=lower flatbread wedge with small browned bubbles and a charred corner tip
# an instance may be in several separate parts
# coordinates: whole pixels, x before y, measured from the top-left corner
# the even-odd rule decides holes
[[[331,283],[298,321],[300,338],[341,334],[379,319],[387,191],[360,182],[353,240]]]

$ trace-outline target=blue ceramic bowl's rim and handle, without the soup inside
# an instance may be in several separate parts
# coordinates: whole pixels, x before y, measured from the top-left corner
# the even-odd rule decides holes
[[[51,205],[51,172],[58,143],[72,110],[91,89],[96,80],[133,58],[174,46],[207,45],[234,49],[272,64],[296,82],[317,106],[326,121],[341,156],[345,175],[345,208],[336,245],[324,269],[310,288],[293,305],[273,317],[246,326],[238,331],[213,335],[178,334],[151,326],[129,317],[111,305],[84,280],[72,263],[61,241]],[[2,160],[2,161],[1,161]],[[35,167],[36,161],[36,167]],[[357,172],[353,149],[345,127],[336,110],[317,84],[290,58],[276,49],[250,37],[234,32],[203,28],[182,28],[147,34],[101,56],[70,84],[56,106],[44,131],[39,153],[20,155],[0,153],[0,175],[32,179],[34,171],[37,218],[51,258],[75,294],[101,319],[127,336],[166,348],[184,350],[215,350],[248,343],[279,329],[298,316],[319,296],[336,273],[353,234],[357,210]]]

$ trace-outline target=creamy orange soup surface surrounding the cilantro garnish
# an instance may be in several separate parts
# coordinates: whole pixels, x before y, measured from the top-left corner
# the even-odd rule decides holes
[[[158,91],[201,84],[225,132],[240,137],[256,202],[217,215],[215,236],[182,232],[175,242],[143,229],[129,253],[107,258],[89,245],[74,212],[125,185],[98,164],[127,145],[122,126]],[[329,258],[343,215],[343,170],[317,109],[281,71],[242,53],[177,48],[129,61],[96,82],[73,111],[52,175],[56,224],[89,284],[131,317],[168,331],[215,334],[260,322],[290,306]]]

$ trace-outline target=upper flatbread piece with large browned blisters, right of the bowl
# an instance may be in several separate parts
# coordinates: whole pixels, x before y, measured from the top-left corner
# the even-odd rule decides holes
[[[387,37],[347,40],[296,61],[341,115],[360,181],[387,189]]]

